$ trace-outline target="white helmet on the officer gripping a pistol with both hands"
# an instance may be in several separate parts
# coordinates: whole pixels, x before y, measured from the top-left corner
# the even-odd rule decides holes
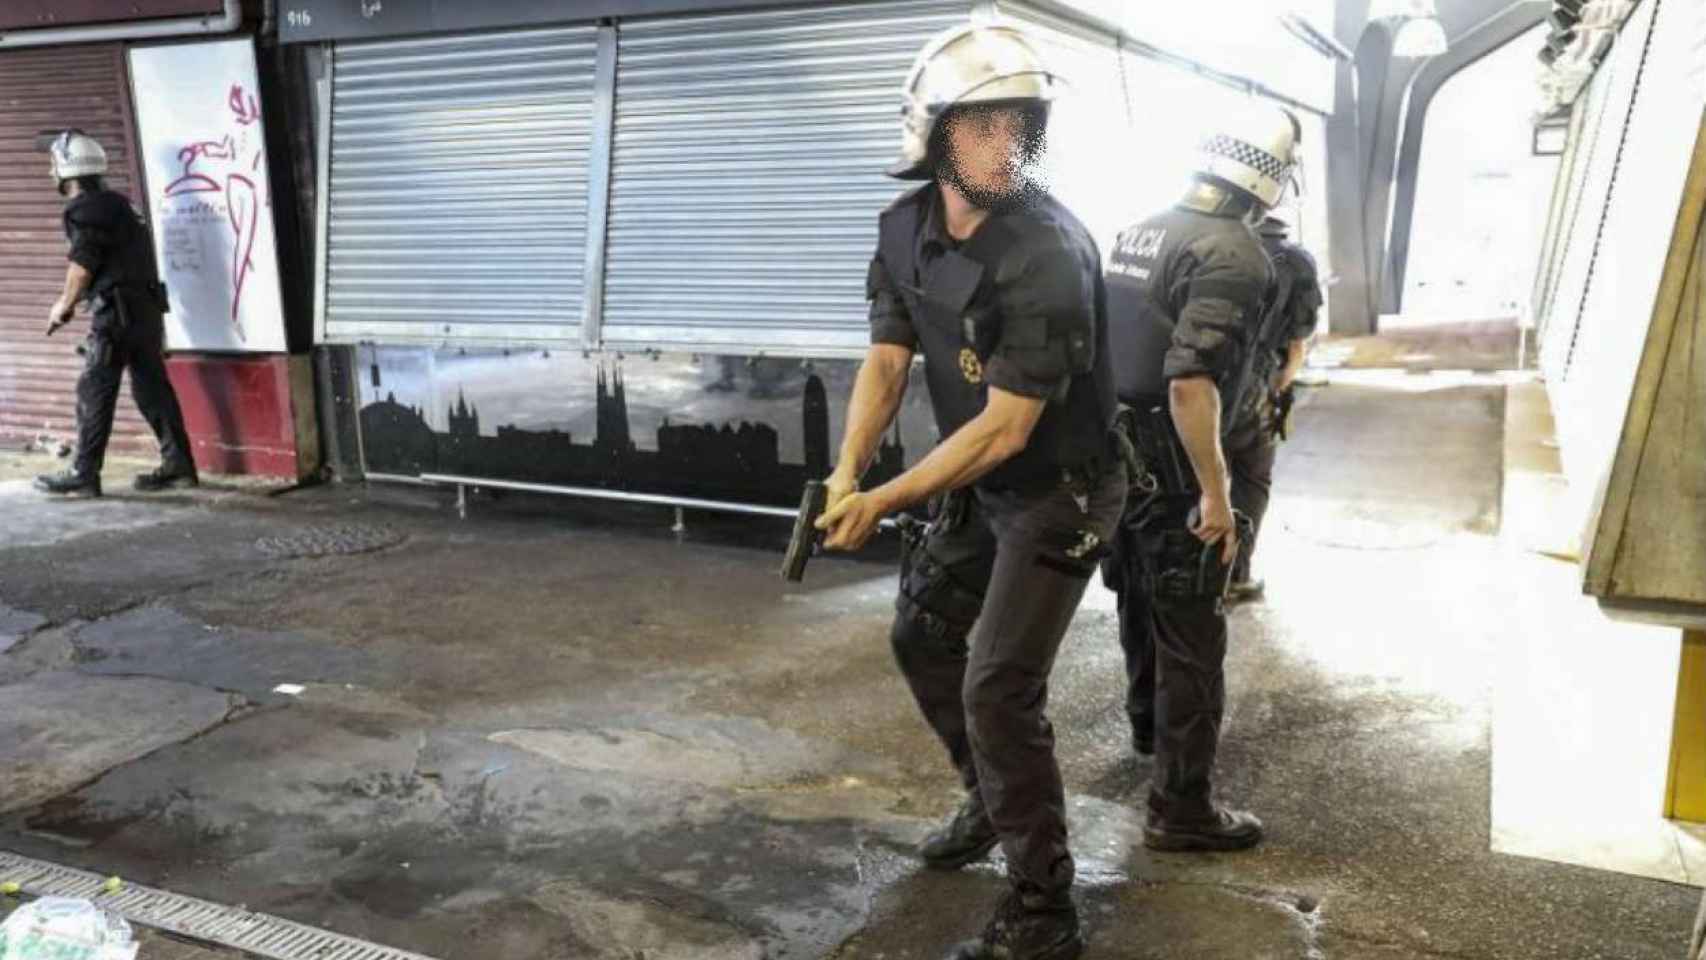
[[[962,104],[1053,102],[1061,77],[1017,27],[964,24],[942,31],[918,51],[901,107],[901,159],[891,177],[928,181],[930,136],[949,107]]]

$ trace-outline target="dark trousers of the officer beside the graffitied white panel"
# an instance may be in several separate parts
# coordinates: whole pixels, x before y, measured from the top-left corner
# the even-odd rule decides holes
[[[164,348],[165,331],[159,322],[121,326],[96,317],[94,331],[84,343],[84,373],[77,379],[73,469],[78,474],[99,474],[106,462],[125,370],[130,370],[130,396],[160,442],[160,462],[167,467],[193,466],[184,414],[177,406],[177,392],[165,377]]]

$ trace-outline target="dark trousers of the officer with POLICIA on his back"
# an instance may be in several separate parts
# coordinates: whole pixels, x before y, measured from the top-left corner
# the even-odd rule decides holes
[[[1126,713],[1133,730],[1155,732],[1148,808],[1169,824],[1213,818],[1211,778],[1227,709],[1227,616],[1218,600],[1157,604],[1146,566],[1162,529],[1186,529],[1196,494],[1158,496],[1121,523],[1111,564],[1119,595],[1119,646],[1126,655]]]

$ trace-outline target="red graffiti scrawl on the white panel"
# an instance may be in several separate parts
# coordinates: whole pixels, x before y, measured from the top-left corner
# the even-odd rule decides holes
[[[237,130],[218,140],[198,140],[177,152],[181,176],[165,184],[167,198],[191,193],[223,193],[225,215],[234,234],[230,264],[230,322],[237,339],[247,339],[242,331],[242,292],[254,271],[254,240],[261,225],[261,206],[271,198],[263,189],[263,143],[251,128],[261,119],[261,106],[254,94],[232,84],[225,97],[230,119]],[[252,176],[251,176],[252,174]]]

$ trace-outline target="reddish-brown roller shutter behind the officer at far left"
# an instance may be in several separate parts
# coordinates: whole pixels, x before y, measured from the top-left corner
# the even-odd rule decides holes
[[[130,92],[119,44],[0,53],[0,440],[77,433],[73,353],[82,322],[48,339],[48,307],[65,285],[61,201],[36,152],[43,130],[77,126],[106,147],[113,189],[142,182],[131,150]],[[138,205],[142,206],[142,205]],[[121,394],[113,447],[152,448],[154,435]]]

